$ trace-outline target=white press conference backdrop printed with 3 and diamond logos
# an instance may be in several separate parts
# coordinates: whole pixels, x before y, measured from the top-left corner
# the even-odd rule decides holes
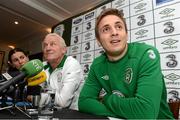
[[[94,58],[103,49],[96,42],[95,18],[105,8],[124,12],[129,40],[155,46],[161,56],[162,73],[169,100],[180,99],[180,0],[109,0],[53,27],[68,45],[68,55],[82,65],[87,77]]]

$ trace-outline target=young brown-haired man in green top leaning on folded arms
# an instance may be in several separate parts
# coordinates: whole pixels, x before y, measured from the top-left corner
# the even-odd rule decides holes
[[[127,43],[123,13],[106,9],[97,18],[95,34],[105,53],[96,58],[80,93],[82,112],[133,119],[171,119],[158,51]],[[104,96],[99,100],[100,91]]]

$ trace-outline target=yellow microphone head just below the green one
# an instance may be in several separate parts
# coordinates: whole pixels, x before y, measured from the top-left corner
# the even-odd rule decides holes
[[[39,74],[27,79],[28,86],[36,86],[43,83],[46,80],[46,73],[41,71]]]

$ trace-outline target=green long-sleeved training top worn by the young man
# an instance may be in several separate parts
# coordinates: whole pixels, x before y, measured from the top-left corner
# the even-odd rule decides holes
[[[100,102],[102,88],[106,95]],[[129,43],[118,61],[109,61],[106,54],[96,58],[80,93],[79,110],[119,118],[173,118],[156,48]]]

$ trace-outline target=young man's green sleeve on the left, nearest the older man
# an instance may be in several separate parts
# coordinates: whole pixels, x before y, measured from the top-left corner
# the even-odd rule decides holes
[[[99,92],[101,90],[99,82],[96,80],[93,71],[93,65],[89,71],[88,78],[81,90],[78,107],[82,112],[87,112],[96,115],[113,116],[113,114],[102,102],[98,100]]]

